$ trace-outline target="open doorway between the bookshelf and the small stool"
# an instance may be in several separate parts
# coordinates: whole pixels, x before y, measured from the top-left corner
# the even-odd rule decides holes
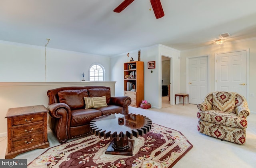
[[[172,96],[171,95],[171,58],[162,56],[162,108],[171,106]]]

